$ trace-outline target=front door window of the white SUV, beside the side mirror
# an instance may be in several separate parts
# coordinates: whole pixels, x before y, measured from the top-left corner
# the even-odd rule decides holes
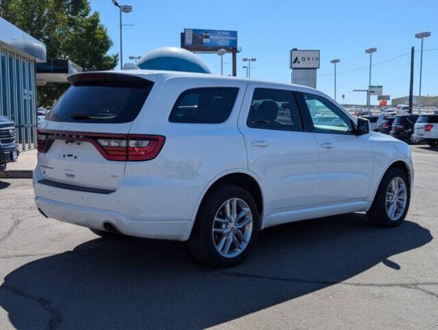
[[[303,93],[316,132],[349,133],[353,131],[351,120],[335,104],[318,95]]]

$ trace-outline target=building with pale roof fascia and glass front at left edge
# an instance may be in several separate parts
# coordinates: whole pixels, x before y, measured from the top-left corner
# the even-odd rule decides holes
[[[0,115],[14,120],[21,151],[36,148],[36,86],[67,83],[82,68],[47,59],[44,43],[1,17],[0,31]]]

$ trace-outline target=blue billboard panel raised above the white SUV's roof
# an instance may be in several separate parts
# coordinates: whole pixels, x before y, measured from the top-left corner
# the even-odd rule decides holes
[[[184,29],[181,47],[186,50],[237,49],[237,31]]]

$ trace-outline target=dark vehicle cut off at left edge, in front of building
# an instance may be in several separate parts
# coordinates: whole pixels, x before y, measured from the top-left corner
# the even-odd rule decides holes
[[[0,115],[0,170],[19,156],[15,140],[15,124],[10,118]]]

